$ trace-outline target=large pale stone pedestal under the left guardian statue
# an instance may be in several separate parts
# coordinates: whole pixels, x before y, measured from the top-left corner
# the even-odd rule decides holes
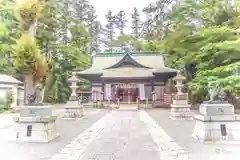
[[[21,107],[20,115],[13,117],[16,123],[13,141],[48,143],[59,136],[56,119],[49,106]]]

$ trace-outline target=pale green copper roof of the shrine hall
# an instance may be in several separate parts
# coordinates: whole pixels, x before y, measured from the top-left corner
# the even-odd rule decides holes
[[[131,58],[136,61],[138,64],[141,64],[144,67],[127,67],[128,71],[131,70],[131,74],[124,73],[123,68],[115,68],[115,70],[110,69],[111,66],[119,63],[125,56],[131,55]],[[148,67],[148,68],[146,68]],[[109,68],[109,69],[107,69]],[[133,69],[136,68],[136,69]],[[135,71],[134,71],[135,70]],[[114,72],[114,75],[113,73]],[[149,72],[143,75],[141,72]],[[157,52],[117,52],[117,53],[98,53],[93,56],[92,66],[84,71],[78,72],[79,75],[84,74],[103,74],[102,77],[111,77],[111,76],[129,76],[137,74],[139,77],[142,76],[153,76],[152,72],[162,73],[162,72],[176,72],[176,70],[165,67],[163,56]],[[127,74],[127,75],[126,75]],[[132,75],[132,76],[130,76]],[[137,77],[138,75],[135,75]]]

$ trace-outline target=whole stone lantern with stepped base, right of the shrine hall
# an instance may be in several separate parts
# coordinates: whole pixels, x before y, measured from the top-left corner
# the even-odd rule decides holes
[[[177,88],[177,93],[171,104],[170,118],[172,120],[191,120],[191,105],[188,104],[188,94],[182,91],[184,88],[183,82],[186,78],[181,75],[180,71],[178,71],[177,76],[175,76],[173,80],[176,82],[175,87]]]

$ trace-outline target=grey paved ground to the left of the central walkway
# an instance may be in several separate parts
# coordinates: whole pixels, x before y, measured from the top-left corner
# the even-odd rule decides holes
[[[81,120],[62,120],[64,109],[55,109],[58,115],[57,129],[60,137],[48,144],[13,143],[8,142],[14,127],[0,129],[0,159],[6,160],[49,160],[54,154],[72,141],[80,133],[103,117],[108,111],[99,109],[85,109],[85,116]],[[14,153],[14,154],[13,154]],[[59,159],[60,160],[60,159]]]

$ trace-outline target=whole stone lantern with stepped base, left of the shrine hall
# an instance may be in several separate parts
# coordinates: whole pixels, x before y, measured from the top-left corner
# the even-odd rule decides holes
[[[71,82],[70,88],[72,89],[72,93],[67,101],[67,104],[64,106],[65,113],[63,119],[79,119],[83,116],[83,106],[82,104],[78,103],[76,94],[76,90],[78,88],[78,78],[76,77],[75,72],[73,72],[72,77],[69,78],[69,81]]]

